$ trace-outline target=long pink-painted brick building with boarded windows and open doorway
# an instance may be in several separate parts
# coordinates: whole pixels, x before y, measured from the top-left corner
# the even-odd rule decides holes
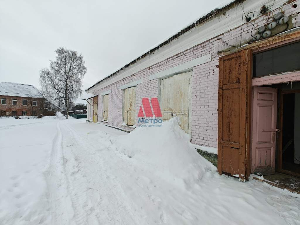
[[[163,121],[178,116],[196,149],[217,155],[219,173],[300,174],[284,165],[286,135],[273,138],[284,124],[288,85],[293,98],[300,92],[299,4],[228,1],[85,90],[88,121],[132,131],[157,99]],[[258,110],[271,100],[273,111]]]

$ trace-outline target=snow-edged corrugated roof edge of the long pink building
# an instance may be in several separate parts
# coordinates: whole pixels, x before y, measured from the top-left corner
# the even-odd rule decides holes
[[[222,11],[223,9],[229,7],[233,3],[238,3],[238,2],[242,2],[242,1],[245,1],[245,0],[225,0],[225,1],[223,1],[220,5],[217,6],[217,8],[215,8],[214,10],[212,10],[210,13],[207,13],[207,14],[203,15],[201,18],[199,18],[198,20],[194,21],[193,23],[191,23],[190,25],[188,25],[186,28],[182,29],[180,32],[178,32],[175,35],[173,35],[172,37],[170,37],[168,40],[162,42],[161,44],[158,44],[157,46],[155,46],[154,48],[152,48],[150,50],[147,50],[145,53],[143,53],[138,58],[134,59],[133,61],[131,61],[130,63],[126,64],[125,66],[123,66],[122,68],[120,68],[119,70],[117,70],[116,72],[114,72],[114,73],[110,74],[109,76],[105,77],[104,79],[101,79],[100,81],[96,82],[94,85],[92,85],[91,87],[87,88],[85,91],[91,89],[92,87],[95,87],[96,85],[100,84],[104,80],[106,80],[106,79],[108,79],[108,78],[110,78],[112,76],[115,76],[117,73],[119,73],[122,70],[130,67],[132,64],[137,63],[138,61],[140,61],[141,59],[145,58],[146,56],[152,54],[153,52],[155,52],[159,48],[161,48],[161,47],[169,44],[174,39],[176,39],[179,36],[183,35],[187,31],[193,29],[195,26],[198,26],[202,22],[205,22],[207,19],[210,19],[210,17],[215,16],[216,13],[219,13],[220,11]]]

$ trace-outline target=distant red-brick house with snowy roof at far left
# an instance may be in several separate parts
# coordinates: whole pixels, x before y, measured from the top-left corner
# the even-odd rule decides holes
[[[44,108],[40,91],[33,85],[0,82],[0,116],[35,116]]]

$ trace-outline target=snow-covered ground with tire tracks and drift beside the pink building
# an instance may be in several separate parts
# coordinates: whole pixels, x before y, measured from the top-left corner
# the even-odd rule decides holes
[[[300,224],[299,195],[215,170],[176,119],[0,118],[0,224]]]

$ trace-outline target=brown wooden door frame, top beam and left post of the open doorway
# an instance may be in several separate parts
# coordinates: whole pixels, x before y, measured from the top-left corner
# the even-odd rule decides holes
[[[262,39],[260,41],[253,42],[251,44],[248,44],[246,46],[238,47],[236,49],[233,49],[229,52],[225,52],[223,55],[220,56],[227,56],[227,55],[232,55],[235,54],[236,52],[240,52],[242,50],[248,50],[247,52],[247,58],[250,60],[249,66],[247,67],[247,80],[252,81],[252,67],[253,67],[253,54],[259,53],[259,52],[264,52],[267,50],[271,50],[274,48],[278,48],[287,44],[292,44],[293,42],[299,42],[300,41],[300,28],[298,29],[293,29],[287,32],[284,32],[283,34],[278,34],[280,36],[271,36],[270,38]],[[220,65],[219,65],[219,76],[220,76]],[[255,79],[255,78],[254,78]],[[245,178],[246,180],[249,179],[250,173],[251,173],[251,120],[252,120],[252,82],[249,82],[249,85],[247,86],[248,89],[246,90],[246,100],[247,101],[247,107],[246,107],[246,137],[245,137],[245,143],[246,143],[246,148],[245,148],[245,167],[241,167],[241,170],[245,171]],[[220,98],[220,96],[219,96]],[[250,100],[250,101],[249,101]],[[278,107],[278,106],[277,106]],[[218,124],[220,122],[218,121]],[[218,126],[218,129],[220,127]],[[282,133],[282,132],[280,132]],[[219,146],[218,146],[219,148]],[[218,159],[222,158],[220,155]],[[220,162],[218,161],[218,164]],[[280,164],[281,165],[281,164]],[[241,165],[240,165],[241,166]],[[221,173],[221,172],[219,172]]]

